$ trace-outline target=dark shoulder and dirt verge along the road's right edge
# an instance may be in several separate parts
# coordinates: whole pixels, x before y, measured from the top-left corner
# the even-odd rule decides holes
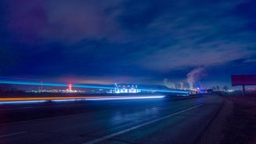
[[[256,97],[223,96],[221,110],[197,143],[256,143]]]

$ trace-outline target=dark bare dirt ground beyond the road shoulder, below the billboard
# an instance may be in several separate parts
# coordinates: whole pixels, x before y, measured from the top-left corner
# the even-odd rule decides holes
[[[233,112],[224,123],[221,143],[256,143],[256,95],[223,97],[233,102]]]

